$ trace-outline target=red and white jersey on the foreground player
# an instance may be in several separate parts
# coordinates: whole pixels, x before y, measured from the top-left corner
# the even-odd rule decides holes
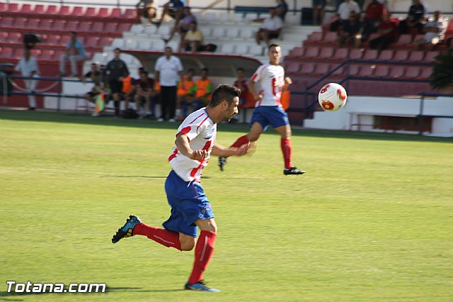
[[[202,170],[207,166],[211,156],[217,134],[217,124],[207,115],[206,108],[191,113],[178,128],[176,137],[180,134],[187,135],[192,150],[207,150],[207,157],[204,160],[190,160],[189,157],[181,154],[175,146],[168,157],[173,170],[184,181],[200,182]]]

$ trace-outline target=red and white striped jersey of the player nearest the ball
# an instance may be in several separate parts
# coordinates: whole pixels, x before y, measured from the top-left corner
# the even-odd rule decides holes
[[[285,84],[285,69],[280,65],[264,64],[256,69],[252,81],[259,82],[263,99],[256,102],[258,106],[282,106],[282,86]]]

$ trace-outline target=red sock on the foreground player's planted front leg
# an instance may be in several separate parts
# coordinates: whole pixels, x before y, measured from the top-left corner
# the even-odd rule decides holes
[[[203,279],[203,272],[210,262],[214,252],[214,241],[216,233],[209,230],[202,230],[195,246],[195,261],[193,262],[193,271],[189,278],[190,284],[195,284]]]

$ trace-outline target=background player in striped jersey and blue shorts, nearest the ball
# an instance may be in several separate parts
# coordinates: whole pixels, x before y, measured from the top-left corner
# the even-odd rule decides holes
[[[287,90],[292,83],[289,77],[285,77],[285,70],[280,66],[280,57],[282,57],[280,45],[269,45],[268,55],[270,62],[258,67],[250,82],[248,82],[248,90],[256,100],[256,108],[250,121],[250,131],[247,135],[238,138],[231,147],[240,147],[241,145],[248,145],[250,142],[256,142],[268,128],[268,125],[272,125],[281,136],[280,146],[285,160],[283,174],[304,174],[305,171],[301,171],[292,165],[292,147],[289,140],[291,127],[288,115],[280,104],[282,92]],[[260,84],[261,89],[258,94],[255,90],[256,83]],[[225,164],[226,157],[219,157],[219,167],[222,171]]]

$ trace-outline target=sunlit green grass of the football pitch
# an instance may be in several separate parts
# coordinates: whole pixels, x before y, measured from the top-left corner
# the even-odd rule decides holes
[[[334,114],[334,113],[333,113]],[[202,184],[219,233],[205,279],[193,252],[110,238],[130,214],[169,215],[176,124],[0,112],[0,301],[453,301],[453,140],[294,130],[282,175],[273,131],[217,158]],[[228,145],[244,125],[219,125]],[[6,281],[104,282],[107,293],[6,293]]]

